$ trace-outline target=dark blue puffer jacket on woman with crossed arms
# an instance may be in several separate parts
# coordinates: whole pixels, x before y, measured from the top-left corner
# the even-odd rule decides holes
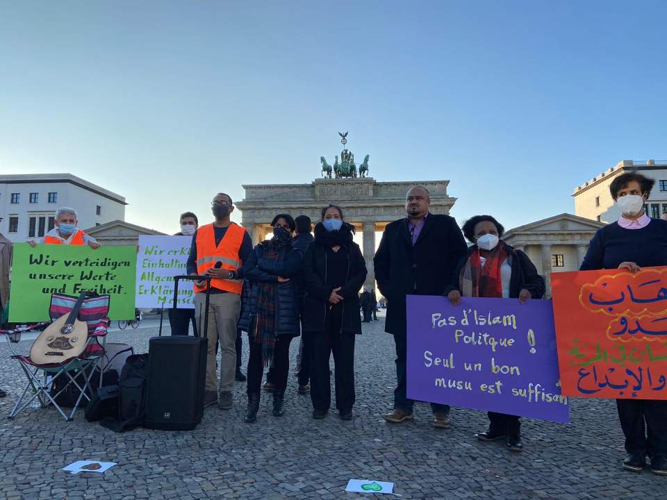
[[[264,245],[258,244],[248,256],[243,265],[243,292],[241,296],[241,313],[237,327],[242,331],[249,331],[250,315],[256,315],[258,310],[257,283],[276,283],[276,333],[277,335],[299,335],[299,312],[297,308],[297,287],[293,279],[285,283],[278,283],[278,276],[294,278],[299,272],[302,261],[302,252],[292,247],[279,252],[278,261],[264,259]],[[272,272],[266,272],[262,266],[270,265]]]

